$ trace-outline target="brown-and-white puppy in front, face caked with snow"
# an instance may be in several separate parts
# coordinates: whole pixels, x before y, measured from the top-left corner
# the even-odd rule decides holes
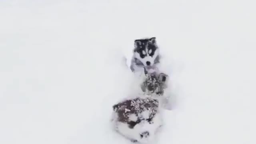
[[[162,125],[158,100],[152,98],[127,99],[115,104],[113,110],[116,131],[132,142],[151,142]]]

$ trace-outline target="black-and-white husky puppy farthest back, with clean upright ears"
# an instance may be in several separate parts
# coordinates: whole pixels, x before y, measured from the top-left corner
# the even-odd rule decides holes
[[[155,37],[134,40],[134,50],[130,65],[132,72],[143,72],[144,68],[150,66],[157,67],[159,59],[159,48]]]

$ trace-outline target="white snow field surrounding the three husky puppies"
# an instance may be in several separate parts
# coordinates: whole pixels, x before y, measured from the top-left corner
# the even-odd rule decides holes
[[[0,144],[131,144],[112,105],[156,37],[172,111],[155,144],[256,144],[255,0],[0,0]]]

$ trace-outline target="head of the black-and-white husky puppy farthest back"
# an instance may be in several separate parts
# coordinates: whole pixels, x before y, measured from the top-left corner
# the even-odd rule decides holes
[[[152,66],[159,60],[156,38],[138,39],[134,41],[134,56],[136,61],[144,66]]]

